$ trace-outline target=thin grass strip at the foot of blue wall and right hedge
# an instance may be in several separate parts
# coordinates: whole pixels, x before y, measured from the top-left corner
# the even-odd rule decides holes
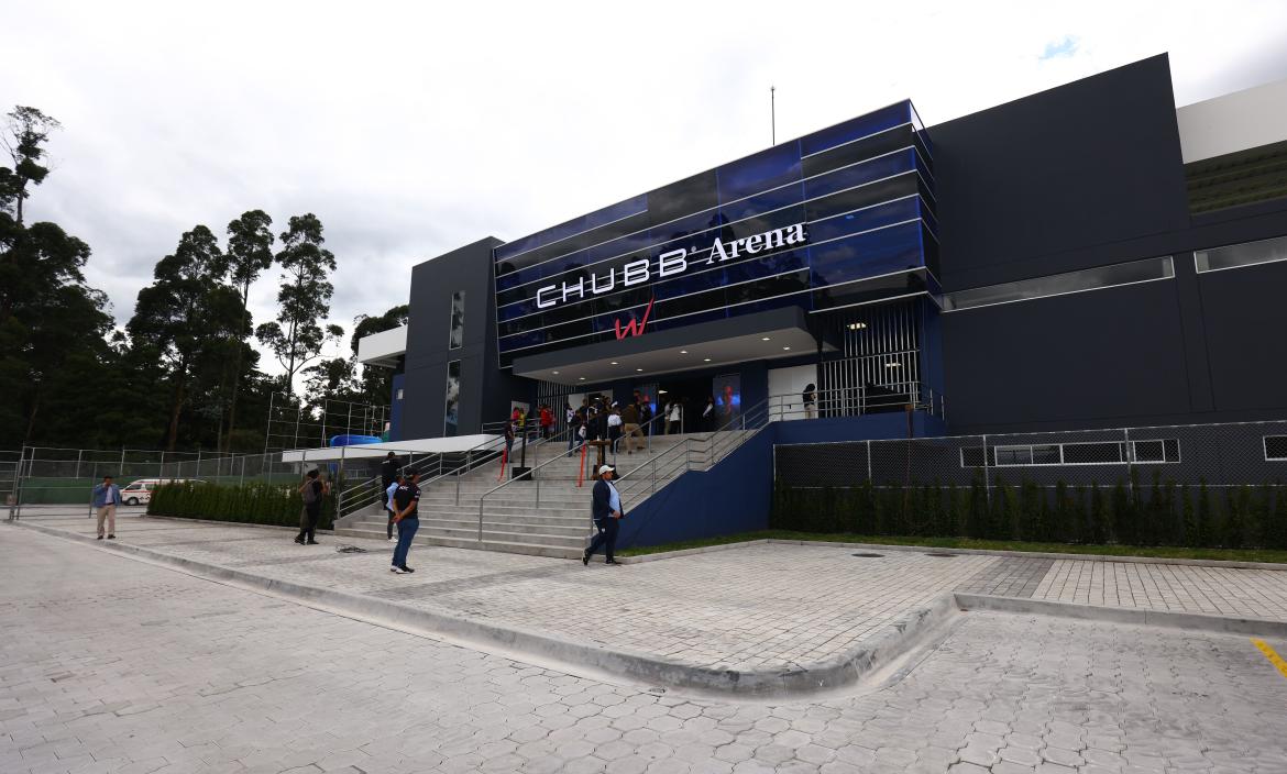
[[[897,535],[849,535],[826,532],[793,532],[789,530],[761,530],[703,540],[685,540],[664,545],[627,548],[616,552],[623,557],[641,557],[686,548],[726,545],[748,540],[817,540],[828,543],[869,543],[874,545],[921,545],[925,548],[967,548],[981,550],[1035,552],[1050,554],[1100,554],[1107,557],[1153,557],[1158,559],[1219,559],[1224,562],[1277,562],[1287,563],[1287,550],[1234,549],[1234,548],[1183,548],[1148,545],[1090,545],[1069,543],[1024,543],[1021,540],[977,540],[974,537],[903,537]]]

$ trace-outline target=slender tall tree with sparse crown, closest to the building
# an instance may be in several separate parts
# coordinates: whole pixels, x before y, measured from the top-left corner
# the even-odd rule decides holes
[[[335,288],[327,279],[335,271],[335,256],[322,247],[322,221],[315,215],[296,215],[281,235],[282,288],[277,293],[277,320],[255,329],[261,343],[273,350],[286,369],[283,390],[293,395],[295,374],[322,354],[322,347],[344,336],[338,325],[323,325],[331,314]]]

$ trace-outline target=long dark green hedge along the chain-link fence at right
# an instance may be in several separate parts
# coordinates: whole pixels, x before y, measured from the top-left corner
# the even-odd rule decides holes
[[[770,526],[803,532],[977,537],[1037,543],[1287,549],[1287,486],[1142,482],[1042,487],[1022,478],[970,486],[870,482],[773,487]]]

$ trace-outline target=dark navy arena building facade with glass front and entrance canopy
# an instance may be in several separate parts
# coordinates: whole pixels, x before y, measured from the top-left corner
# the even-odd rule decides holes
[[[807,384],[933,435],[1282,418],[1287,188],[1255,170],[1287,147],[1194,161],[1181,134],[1160,55],[481,239],[413,269],[394,437],[595,393],[794,410]],[[906,432],[871,419],[847,432]]]

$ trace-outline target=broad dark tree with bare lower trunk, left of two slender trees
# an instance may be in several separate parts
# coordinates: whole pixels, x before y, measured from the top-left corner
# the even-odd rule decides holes
[[[223,284],[224,257],[208,228],[187,231],[174,255],[161,258],[156,282],[139,291],[134,318],[126,330],[135,356],[157,357],[167,365],[170,423],[166,450],[179,437],[179,415],[188,401],[193,370],[227,355],[227,342],[241,320],[237,291]]]

